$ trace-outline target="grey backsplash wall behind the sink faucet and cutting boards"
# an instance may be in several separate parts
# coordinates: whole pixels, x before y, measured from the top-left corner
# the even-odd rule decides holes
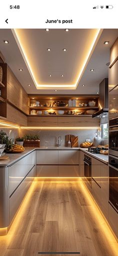
[[[97,132],[97,129],[82,129],[82,130],[30,130],[30,129],[20,129],[19,130],[19,136],[22,137],[25,134],[31,134],[31,135],[39,135],[40,137],[40,147],[41,146],[57,146],[57,138],[58,136],[61,136],[62,142],[61,146],[65,146],[65,135],[70,134],[74,136],[78,136],[78,144],[84,142],[85,139],[90,139],[93,141],[93,138],[95,137],[95,133]]]

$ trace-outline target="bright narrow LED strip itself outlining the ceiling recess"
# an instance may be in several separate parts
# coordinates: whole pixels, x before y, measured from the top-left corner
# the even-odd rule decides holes
[[[16,43],[17,43],[17,45],[19,47],[19,50],[20,50],[21,55],[22,55],[22,57],[24,59],[24,62],[26,64],[27,68],[28,68],[28,71],[29,71],[29,73],[31,75],[31,78],[32,78],[32,80],[33,80],[33,82],[35,84],[36,89],[54,89],[54,88],[55,89],[58,89],[58,88],[61,88],[61,89],[64,89],[64,88],[65,89],[67,89],[67,88],[68,89],[76,89],[76,87],[77,87],[77,85],[78,85],[78,83],[79,83],[79,81],[81,79],[81,76],[82,76],[82,74],[83,74],[83,72],[85,70],[85,67],[88,64],[88,61],[89,61],[89,59],[91,57],[91,54],[92,54],[92,52],[93,52],[93,50],[94,50],[94,48],[95,48],[95,46],[96,46],[96,44],[98,42],[98,39],[99,39],[99,37],[100,37],[100,35],[101,35],[103,30],[102,29],[97,29],[97,32],[96,32],[96,34],[94,36],[94,40],[92,41],[92,44],[90,45],[88,54],[87,54],[87,56],[86,56],[86,58],[84,60],[82,68],[81,68],[81,70],[80,70],[80,72],[79,72],[79,74],[77,76],[76,82],[75,82],[75,84],[72,84],[72,85],[70,85],[70,84],[69,85],[58,85],[58,84],[56,84],[56,85],[42,84],[41,85],[41,84],[38,84],[36,79],[35,79],[35,76],[34,76],[34,73],[32,71],[32,68],[31,68],[31,65],[29,63],[29,60],[28,60],[28,58],[26,56],[26,53],[24,51],[24,48],[21,45],[20,38],[18,36],[18,33],[17,33],[16,29],[11,29],[11,31],[12,31],[12,34],[13,34],[13,36],[14,36],[14,38],[16,40]]]

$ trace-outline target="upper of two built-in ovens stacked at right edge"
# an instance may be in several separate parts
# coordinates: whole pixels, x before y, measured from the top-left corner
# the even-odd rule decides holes
[[[118,117],[109,120],[109,154],[118,157]]]

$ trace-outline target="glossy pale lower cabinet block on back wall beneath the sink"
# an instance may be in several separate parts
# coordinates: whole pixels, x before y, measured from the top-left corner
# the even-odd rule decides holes
[[[36,151],[36,177],[78,177],[78,150]]]

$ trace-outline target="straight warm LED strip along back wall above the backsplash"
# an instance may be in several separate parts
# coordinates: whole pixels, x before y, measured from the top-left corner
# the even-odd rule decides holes
[[[79,127],[79,126],[76,126],[76,127],[72,127],[72,126],[70,126],[70,127],[65,127],[65,126],[52,126],[52,127],[50,127],[50,126],[47,126],[47,127],[45,127],[45,126],[20,126],[20,129],[43,129],[43,130],[48,130],[48,129],[50,129],[50,130],[58,130],[58,129],[63,129],[63,130],[68,130],[68,129],[70,129],[70,130],[82,130],[82,129],[86,129],[86,130],[88,130],[88,129],[100,129],[100,127],[99,126],[89,126],[89,127],[84,127],[84,126],[81,126],[81,127]]]

